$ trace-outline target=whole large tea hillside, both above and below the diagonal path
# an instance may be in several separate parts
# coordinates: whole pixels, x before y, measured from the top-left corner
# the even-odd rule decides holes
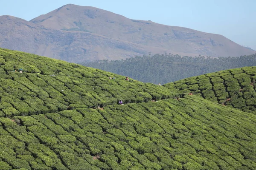
[[[254,114],[124,78],[0,48],[0,169],[255,169]]]

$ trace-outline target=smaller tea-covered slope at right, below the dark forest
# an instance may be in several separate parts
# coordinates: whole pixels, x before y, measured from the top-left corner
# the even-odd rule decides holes
[[[256,67],[190,77],[164,85],[180,94],[197,94],[213,102],[256,113]]]

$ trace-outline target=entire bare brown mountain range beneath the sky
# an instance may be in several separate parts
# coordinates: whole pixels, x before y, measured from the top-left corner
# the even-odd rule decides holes
[[[5,32],[0,36],[2,48],[76,63],[126,59],[148,52],[193,57],[256,53],[218,34],[132,20],[99,8],[73,4],[30,21],[0,16],[0,29]]]

